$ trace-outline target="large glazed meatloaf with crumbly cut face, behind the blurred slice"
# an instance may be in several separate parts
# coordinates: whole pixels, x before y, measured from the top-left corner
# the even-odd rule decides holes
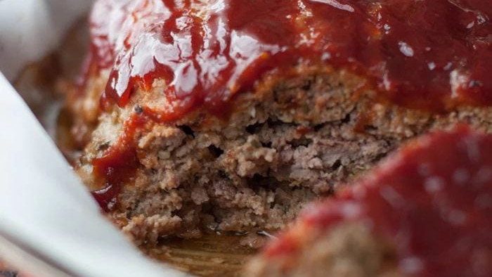
[[[98,0],[77,172],[137,243],[282,228],[408,138],[491,130],[491,6]]]

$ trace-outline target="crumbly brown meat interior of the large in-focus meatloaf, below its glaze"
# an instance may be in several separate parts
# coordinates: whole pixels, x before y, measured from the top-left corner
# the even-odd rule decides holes
[[[233,98],[225,118],[197,110],[137,131],[139,166],[110,217],[136,243],[276,230],[408,138],[457,122],[491,129],[488,108],[439,115],[380,103],[374,91],[358,89],[363,78],[343,70],[299,66],[295,76],[264,77]],[[101,112],[107,78],[103,72],[89,79],[86,92],[69,102],[79,122],[74,129],[90,141],[77,172],[92,190],[104,184],[91,162],[117,143],[124,122],[142,106],[167,107],[157,79],[150,90],[136,89],[124,108]]]

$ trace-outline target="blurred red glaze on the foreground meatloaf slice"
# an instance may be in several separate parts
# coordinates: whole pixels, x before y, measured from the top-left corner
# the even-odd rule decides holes
[[[354,220],[373,226],[396,245],[405,276],[491,276],[491,212],[492,136],[461,128],[403,148],[337,198],[306,210],[301,222],[307,229]],[[266,255],[294,252],[289,236]]]

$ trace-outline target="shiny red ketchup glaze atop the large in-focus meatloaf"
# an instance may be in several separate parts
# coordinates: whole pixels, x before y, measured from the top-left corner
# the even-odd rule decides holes
[[[197,108],[226,116],[233,96],[299,63],[351,70],[382,99],[443,112],[492,105],[491,16],[489,0],[98,0],[89,67],[110,70],[102,108],[164,80],[169,107],[145,117],[159,122]],[[101,172],[126,163],[130,150],[114,148]]]

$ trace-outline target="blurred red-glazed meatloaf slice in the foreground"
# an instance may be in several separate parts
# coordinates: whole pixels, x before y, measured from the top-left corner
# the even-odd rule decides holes
[[[411,141],[307,208],[246,276],[491,276],[492,136]]]

